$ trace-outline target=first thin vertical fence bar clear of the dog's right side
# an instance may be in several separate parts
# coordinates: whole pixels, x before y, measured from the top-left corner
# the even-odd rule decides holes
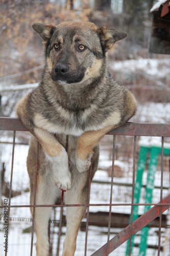
[[[113,194],[114,159],[115,159],[115,141],[116,141],[116,136],[115,136],[115,135],[113,135],[112,175],[111,175],[111,187],[110,187],[110,204],[112,203],[112,194]],[[107,237],[107,256],[108,256],[108,254],[109,254],[109,240],[110,240],[111,214],[112,214],[112,206],[110,205],[110,207],[109,207],[108,237]]]

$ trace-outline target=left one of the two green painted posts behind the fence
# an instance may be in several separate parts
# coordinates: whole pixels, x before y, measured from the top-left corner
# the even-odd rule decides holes
[[[143,176],[143,172],[147,162],[147,155],[149,152],[150,152],[150,148],[145,146],[140,147],[137,173],[136,173],[136,182],[135,182],[135,188],[134,188],[134,204],[139,203],[140,190],[142,187],[142,176]],[[135,221],[137,218],[138,218],[138,206],[133,206],[133,221]],[[133,236],[131,240],[131,253],[134,247],[134,238],[135,236]],[[126,255],[129,255],[129,240],[127,243]]]

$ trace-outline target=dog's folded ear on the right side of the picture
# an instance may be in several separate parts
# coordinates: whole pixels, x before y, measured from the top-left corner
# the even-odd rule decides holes
[[[99,35],[101,38],[101,44],[104,47],[105,52],[107,52],[112,48],[116,41],[124,39],[127,36],[127,33],[103,27],[99,29]]]

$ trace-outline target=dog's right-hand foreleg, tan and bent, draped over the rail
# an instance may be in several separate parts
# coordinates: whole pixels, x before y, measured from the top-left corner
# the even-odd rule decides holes
[[[98,146],[102,137],[112,129],[113,126],[107,126],[102,130],[85,132],[78,138],[76,165],[80,173],[89,169],[93,155],[93,148]]]

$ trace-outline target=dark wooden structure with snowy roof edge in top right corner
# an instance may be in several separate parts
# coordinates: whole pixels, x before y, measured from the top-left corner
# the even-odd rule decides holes
[[[150,52],[170,54],[170,0],[160,0],[150,12],[153,13]]]

